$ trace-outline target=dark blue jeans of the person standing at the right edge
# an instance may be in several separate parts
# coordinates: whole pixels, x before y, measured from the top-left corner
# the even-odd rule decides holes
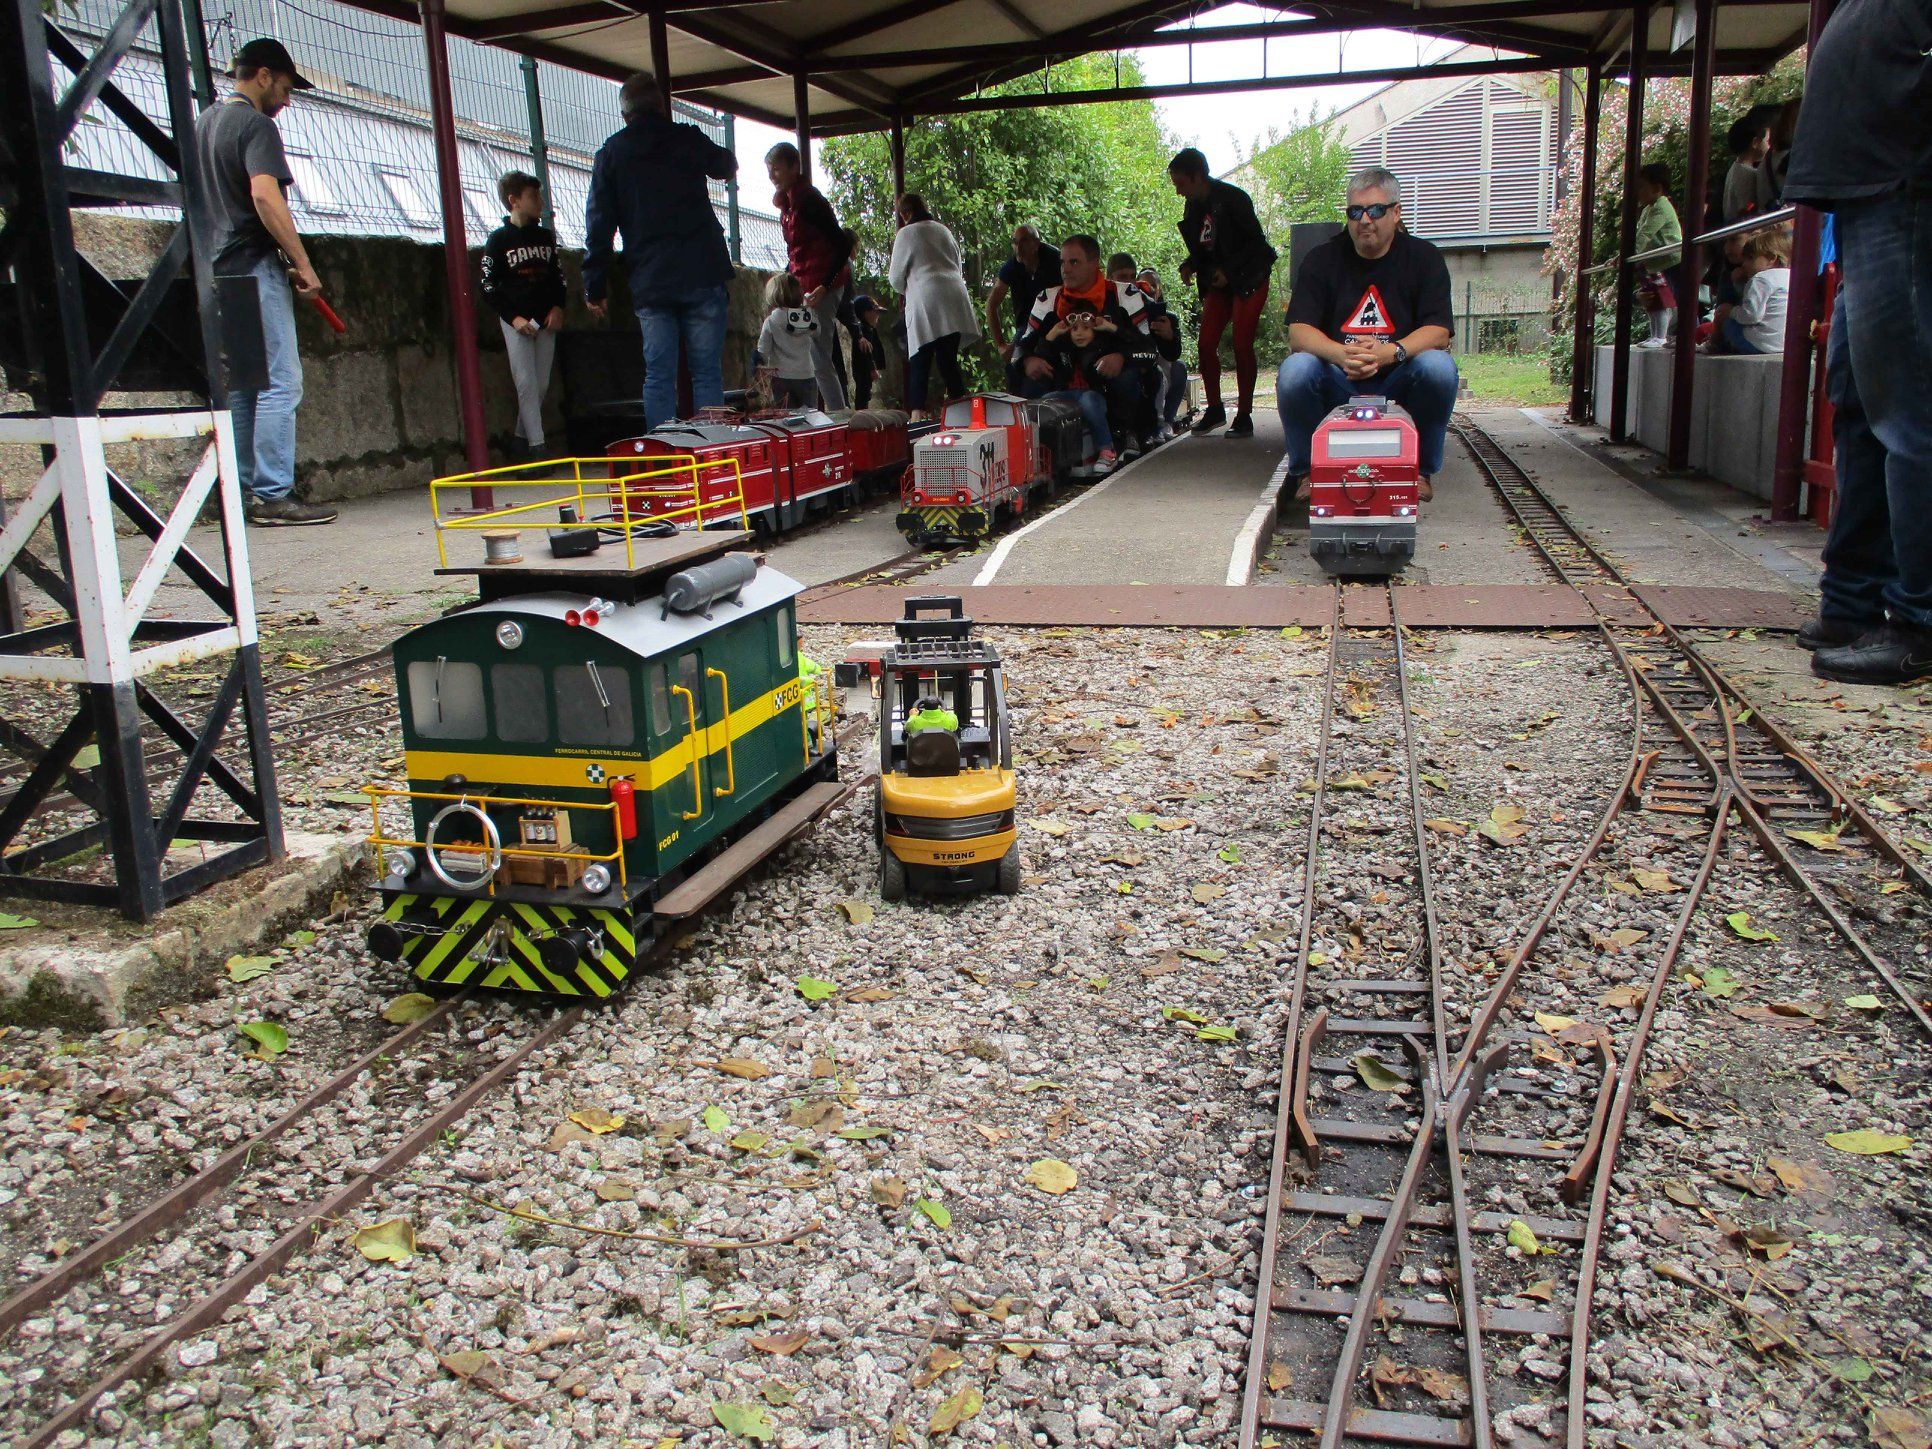
[[[1845,284],[1826,390],[1837,498],[1824,545],[1826,618],[1932,628],[1932,197],[1837,209]]]

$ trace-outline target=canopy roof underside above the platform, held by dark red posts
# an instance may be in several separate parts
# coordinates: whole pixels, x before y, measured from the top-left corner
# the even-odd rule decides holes
[[[417,19],[412,0],[350,0]],[[1215,25],[1225,0],[446,0],[448,29],[622,79],[653,70],[651,31],[665,27],[672,89],[699,104],[782,126],[798,124],[798,77],[817,135],[879,129],[895,114],[943,114],[989,83],[1051,60],[1190,41],[1248,41],[1256,71],[1269,37],[1368,27],[1414,31],[1509,52],[1497,70],[1555,70],[1615,62],[1631,43],[1627,0],[1321,0],[1262,4],[1265,23]],[[1690,6],[1683,4],[1689,12]],[[1754,73],[1804,41],[1803,0],[1718,0],[1718,66]],[[1202,23],[1206,21],[1206,23]],[[1687,70],[1671,50],[1673,6],[1652,10],[1652,71]],[[1424,68],[1422,73],[1426,73]],[[1132,87],[1082,99],[1285,89],[1414,71],[1323,71],[1211,85]]]

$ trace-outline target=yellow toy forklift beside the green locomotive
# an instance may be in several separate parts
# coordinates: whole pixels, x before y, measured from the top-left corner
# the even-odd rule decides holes
[[[1020,889],[999,655],[958,597],[906,599],[879,661],[879,895]]]

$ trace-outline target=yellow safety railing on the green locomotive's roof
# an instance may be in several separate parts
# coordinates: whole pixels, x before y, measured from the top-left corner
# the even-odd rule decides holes
[[[520,502],[481,512],[444,512],[444,495],[462,489],[514,491]],[[539,497],[531,497],[531,495]],[[709,497],[707,497],[709,495]],[[730,522],[752,527],[744,506],[744,471],[736,458],[551,458],[508,464],[429,481],[437,526],[437,564],[450,566],[450,533],[500,533],[558,527],[558,510],[576,510],[578,526],[620,531],[624,566],[636,568],[634,537],[657,524],[705,527]]]

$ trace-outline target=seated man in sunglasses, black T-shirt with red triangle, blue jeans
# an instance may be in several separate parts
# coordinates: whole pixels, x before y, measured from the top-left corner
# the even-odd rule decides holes
[[[1275,400],[1296,500],[1308,498],[1316,427],[1356,394],[1408,410],[1420,435],[1420,497],[1434,497],[1455,412],[1449,267],[1403,230],[1403,184],[1381,166],[1349,178],[1349,224],[1308,253],[1289,298],[1289,346]]]

